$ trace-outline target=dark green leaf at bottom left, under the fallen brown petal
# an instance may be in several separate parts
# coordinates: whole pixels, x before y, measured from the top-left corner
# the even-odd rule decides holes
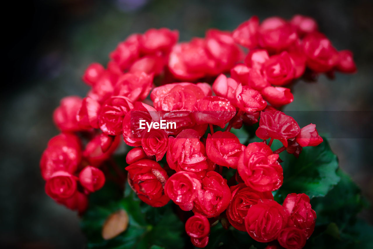
[[[126,187],[129,188],[128,185]],[[117,237],[104,240],[102,226],[107,217],[118,209],[128,213],[128,228]],[[171,203],[164,207],[151,207],[141,202],[133,191],[119,201],[90,207],[82,218],[81,227],[87,236],[88,248],[184,247],[180,240],[184,224],[172,212]]]

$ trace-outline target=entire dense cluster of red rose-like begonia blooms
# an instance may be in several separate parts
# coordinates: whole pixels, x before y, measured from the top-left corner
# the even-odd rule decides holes
[[[300,129],[277,108],[293,101],[286,86],[305,70],[354,72],[351,52],[338,52],[313,19],[300,15],[261,24],[254,16],[233,32],[177,41],[178,31],[166,28],[133,34],[110,53],[106,68],[87,68],[87,96],[62,99],[53,114],[62,133],[41,158],[46,193],[84,211],[123,136],[134,147],[126,156],[129,185],[153,207],[172,200],[192,210],[185,230],[195,246],[207,245],[210,222],[220,216],[259,242],[303,247],[316,219],[308,196],[289,194],[281,206],[271,191],[283,182],[278,154],[298,156],[322,138],[316,125]],[[245,146],[230,132],[259,118],[263,142]],[[175,125],[162,128],[162,121]],[[226,129],[214,133],[214,126]],[[273,151],[273,139],[284,146]],[[235,171],[229,182],[222,167]]]

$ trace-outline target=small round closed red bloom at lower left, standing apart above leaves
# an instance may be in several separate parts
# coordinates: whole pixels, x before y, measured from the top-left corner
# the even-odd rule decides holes
[[[88,191],[95,192],[105,184],[105,175],[96,167],[86,166],[79,173],[79,182]]]

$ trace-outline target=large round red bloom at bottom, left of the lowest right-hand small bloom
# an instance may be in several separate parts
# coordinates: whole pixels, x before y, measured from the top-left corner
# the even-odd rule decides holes
[[[269,242],[277,238],[286,226],[288,215],[274,200],[261,200],[247,211],[245,227],[248,234],[258,242]]]

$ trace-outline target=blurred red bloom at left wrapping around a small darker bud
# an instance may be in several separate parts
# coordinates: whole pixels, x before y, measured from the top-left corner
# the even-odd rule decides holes
[[[104,145],[103,150],[102,139],[103,134],[97,135],[85,146],[83,157],[91,166],[98,167],[105,160],[109,159],[118,147],[121,140],[120,136],[115,136],[112,141],[109,141],[108,144]]]

